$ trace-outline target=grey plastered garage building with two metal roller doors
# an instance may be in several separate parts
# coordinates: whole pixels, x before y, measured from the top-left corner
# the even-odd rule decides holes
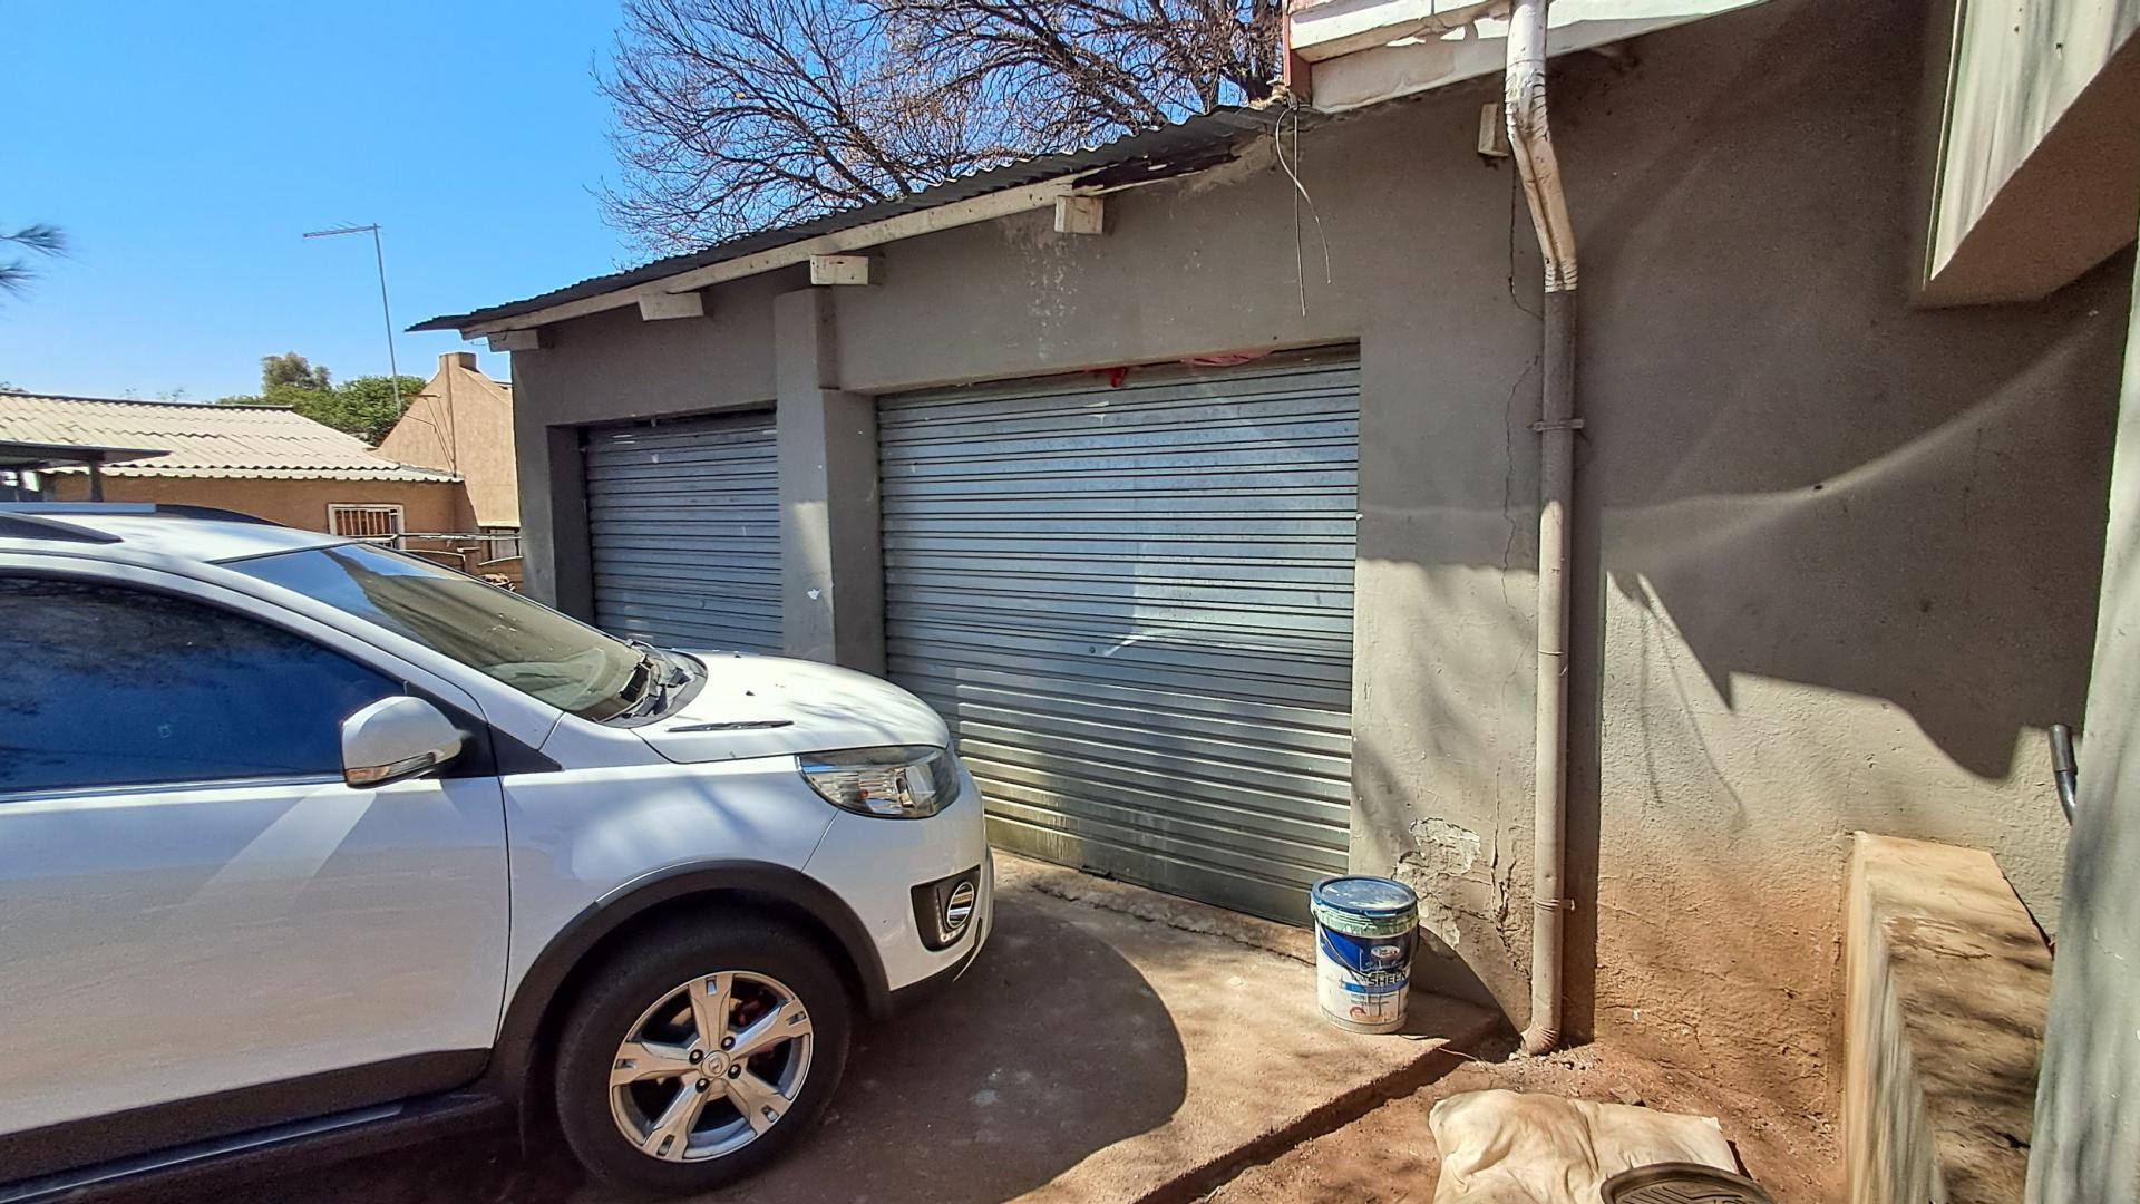
[[[2091,683],[2140,122],[2001,101],[2069,30],[1956,54],[1941,2],[1552,6],[1552,761],[1564,298],[1507,6],[1374,9],[1295,21],[1290,101],[419,328],[514,353],[531,593],[888,673],[1008,848],[1295,921],[1406,878],[1421,981],[1517,1024],[1556,913],[1569,1035],[1834,1118],[1853,831],[1988,851],[2061,928],[2044,731]]]

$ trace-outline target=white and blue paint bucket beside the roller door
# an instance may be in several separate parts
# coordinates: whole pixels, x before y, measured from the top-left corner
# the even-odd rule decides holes
[[[1419,896],[1391,878],[1323,878],[1308,891],[1316,917],[1316,1003],[1352,1033],[1395,1033],[1412,985]]]

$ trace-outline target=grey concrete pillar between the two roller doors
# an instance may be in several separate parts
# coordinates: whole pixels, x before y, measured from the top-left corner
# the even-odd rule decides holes
[[[877,405],[843,392],[830,289],[773,300],[788,656],[884,673]]]

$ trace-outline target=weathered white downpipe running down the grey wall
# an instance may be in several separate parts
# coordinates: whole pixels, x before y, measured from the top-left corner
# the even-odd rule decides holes
[[[1560,1043],[1562,889],[1569,829],[1569,508],[1575,499],[1575,229],[1545,124],[1545,4],[1509,9],[1502,107],[1509,146],[1545,259],[1545,330],[1539,396],[1539,711],[1530,853],[1530,1024],[1524,1052]]]

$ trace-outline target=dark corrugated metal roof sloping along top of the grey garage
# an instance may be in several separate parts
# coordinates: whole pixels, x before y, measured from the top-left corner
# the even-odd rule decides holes
[[[1230,105],[1224,109],[1213,109],[1209,114],[1188,118],[1183,122],[1175,122],[1171,126],[1153,126],[1126,133],[1115,141],[1106,141],[1100,146],[1085,146],[1057,154],[1036,154],[1031,159],[1019,159],[1012,163],[1004,163],[999,167],[989,167],[984,171],[974,171],[969,176],[948,180],[933,189],[922,189],[920,193],[907,197],[895,197],[890,201],[877,201],[871,206],[841,210],[805,223],[785,225],[779,229],[743,234],[725,242],[706,246],[704,251],[670,255],[668,259],[655,259],[653,264],[631,268],[627,272],[593,276],[580,281],[578,285],[552,289],[541,296],[494,304],[471,313],[439,315],[428,321],[419,321],[409,330],[460,330],[484,321],[496,321],[501,317],[516,317],[522,313],[533,313],[537,308],[550,308],[554,304],[593,298],[616,289],[629,289],[631,285],[644,285],[648,281],[676,276],[683,272],[691,272],[696,268],[723,264],[728,259],[758,255],[760,251],[773,251],[777,246],[788,246],[790,242],[802,242],[807,238],[839,234],[843,229],[854,229],[858,225],[869,225],[873,221],[884,221],[920,210],[933,210],[937,206],[967,201],[974,197],[984,197],[989,193],[1002,193],[1004,189],[1023,189],[1027,184],[1040,184],[1044,180],[1059,180],[1064,176],[1091,176],[1091,180],[1083,180],[1091,184],[1132,184],[1138,180],[1164,180],[1168,176],[1183,176],[1188,171],[1201,171],[1205,167],[1224,163],[1226,156],[1213,156],[1211,152],[1226,148],[1243,133],[1269,131],[1273,120],[1275,114],[1271,111]]]

